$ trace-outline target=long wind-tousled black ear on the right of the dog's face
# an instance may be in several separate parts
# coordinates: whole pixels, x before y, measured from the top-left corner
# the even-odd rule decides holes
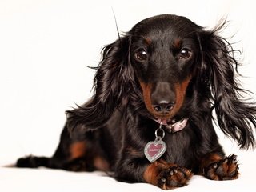
[[[236,80],[238,62],[232,46],[218,36],[218,31],[225,24],[199,34],[202,71],[205,82],[210,86],[218,126],[224,134],[234,138],[241,148],[248,149],[255,144],[256,107],[255,103],[246,102],[247,90],[243,90]]]

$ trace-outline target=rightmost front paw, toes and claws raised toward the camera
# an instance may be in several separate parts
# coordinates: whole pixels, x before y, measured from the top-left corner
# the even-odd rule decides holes
[[[210,166],[203,169],[202,174],[212,180],[230,180],[238,178],[238,170],[237,156],[231,154],[218,162],[211,163]]]

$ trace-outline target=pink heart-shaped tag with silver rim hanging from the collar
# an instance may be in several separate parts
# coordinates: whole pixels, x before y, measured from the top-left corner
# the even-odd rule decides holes
[[[150,162],[156,161],[166,152],[166,143],[162,140],[148,142],[144,148],[144,154]]]

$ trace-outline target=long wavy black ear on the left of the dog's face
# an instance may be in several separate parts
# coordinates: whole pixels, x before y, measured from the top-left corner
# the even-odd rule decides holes
[[[129,66],[130,38],[119,38],[102,50],[102,61],[96,68],[94,77],[94,96],[89,102],[74,110],[66,111],[67,126],[73,130],[87,131],[104,126],[129,92],[128,84],[133,78]]]

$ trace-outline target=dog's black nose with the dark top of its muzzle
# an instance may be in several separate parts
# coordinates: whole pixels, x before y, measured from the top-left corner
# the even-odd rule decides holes
[[[175,94],[167,82],[158,82],[151,94],[154,110],[161,114],[169,113],[175,105]]]

